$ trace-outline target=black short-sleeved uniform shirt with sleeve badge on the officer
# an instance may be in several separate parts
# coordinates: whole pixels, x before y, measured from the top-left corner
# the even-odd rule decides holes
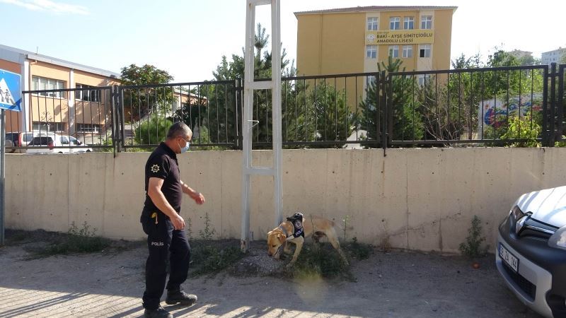
[[[179,165],[177,155],[165,143],[161,143],[151,155],[146,163],[146,201],[144,211],[158,211],[151,198],[147,195],[149,178],[156,177],[163,179],[161,192],[165,199],[179,213],[181,211],[181,201],[183,199],[183,188],[179,177]]]

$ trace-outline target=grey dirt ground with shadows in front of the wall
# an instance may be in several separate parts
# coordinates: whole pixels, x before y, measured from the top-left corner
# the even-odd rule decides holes
[[[33,232],[30,232],[33,233]],[[29,259],[32,234],[0,247],[0,317],[141,317],[146,247]],[[240,266],[269,259],[253,242]],[[192,307],[161,305],[175,317],[540,317],[517,300],[497,273],[494,256],[374,251],[352,261],[357,281],[317,277],[295,280],[222,271],[189,278]],[[164,298],[163,298],[164,299]]]

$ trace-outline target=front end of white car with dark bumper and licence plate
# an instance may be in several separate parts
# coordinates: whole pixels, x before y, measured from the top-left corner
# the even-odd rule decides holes
[[[499,225],[495,264],[519,300],[566,317],[566,187],[523,194]]]

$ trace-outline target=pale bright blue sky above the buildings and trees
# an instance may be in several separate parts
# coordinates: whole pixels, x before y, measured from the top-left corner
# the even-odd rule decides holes
[[[458,6],[451,58],[495,47],[541,57],[566,47],[566,1],[486,0],[281,0],[281,36],[296,59],[294,12],[353,6]],[[242,55],[246,0],[0,0],[1,45],[120,73],[151,64],[174,82],[211,80],[222,56]],[[271,33],[270,6],[256,23]]]

